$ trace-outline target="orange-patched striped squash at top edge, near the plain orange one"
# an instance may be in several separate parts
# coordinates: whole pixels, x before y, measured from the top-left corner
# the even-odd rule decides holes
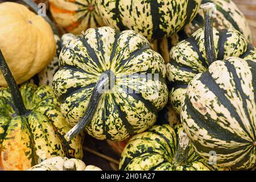
[[[95,0],[49,0],[49,5],[56,23],[72,34],[104,26],[95,8]]]

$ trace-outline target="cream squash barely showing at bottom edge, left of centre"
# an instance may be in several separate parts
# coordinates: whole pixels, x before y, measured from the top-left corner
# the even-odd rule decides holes
[[[60,156],[44,160],[28,169],[28,171],[102,171],[96,166],[86,166],[82,160],[68,159]]]

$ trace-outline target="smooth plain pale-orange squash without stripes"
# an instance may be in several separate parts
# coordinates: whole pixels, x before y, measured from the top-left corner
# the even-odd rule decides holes
[[[18,84],[50,63],[56,52],[51,26],[26,6],[0,3],[0,48]],[[6,86],[0,76],[0,86]]]

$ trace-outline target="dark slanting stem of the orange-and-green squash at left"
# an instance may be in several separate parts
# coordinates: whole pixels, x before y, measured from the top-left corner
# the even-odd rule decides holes
[[[11,74],[11,71],[6,63],[5,57],[3,57],[3,53],[0,49],[0,69],[5,77],[5,80],[11,90],[11,97],[13,98],[15,113],[18,115],[25,115],[27,113],[26,107],[22,101],[22,96],[19,92],[18,85]]]

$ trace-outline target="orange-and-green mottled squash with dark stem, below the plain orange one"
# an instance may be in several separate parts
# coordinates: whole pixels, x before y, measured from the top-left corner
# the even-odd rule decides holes
[[[9,88],[0,89],[0,169],[26,170],[51,156],[82,158],[81,137],[67,141],[71,129],[49,86],[18,89],[0,51],[0,69]]]

